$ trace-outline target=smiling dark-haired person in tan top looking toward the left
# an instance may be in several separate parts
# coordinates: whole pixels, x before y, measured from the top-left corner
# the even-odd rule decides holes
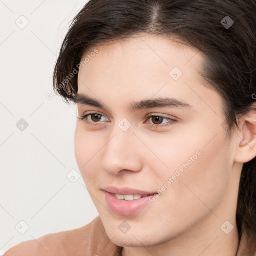
[[[91,0],[54,89],[99,216],[11,255],[256,255],[256,1]]]

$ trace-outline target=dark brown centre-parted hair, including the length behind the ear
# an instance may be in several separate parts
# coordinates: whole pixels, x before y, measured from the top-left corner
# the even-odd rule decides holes
[[[206,55],[201,75],[222,98],[227,134],[234,124],[238,126],[237,116],[252,109],[256,95],[255,0],[90,0],[64,38],[54,69],[54,91],[65,102],[72,101],[82,55],[101,42],[140,32],[174,35]],[[67,79],[71,73],[73,78]],[[239,238],[244,231],[255,239],[256,158],[243,165],[236,222]]]

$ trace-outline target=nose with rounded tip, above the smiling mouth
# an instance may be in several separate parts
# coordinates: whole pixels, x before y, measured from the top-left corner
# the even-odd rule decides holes
[[[142,155],[139,150],[143,150],[141,141],[132,128],[123,131],[116,125],[104,146],[101,166],[111,175],[127,171],[138,172],[142,169]]]

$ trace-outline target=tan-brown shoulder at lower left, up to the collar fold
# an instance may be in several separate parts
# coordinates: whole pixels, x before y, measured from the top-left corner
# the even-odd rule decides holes
[[[100,219],[96,217],[83,227],[21,242],[6,251],[3,256],[64,256],[82,255],[82,253],[84,255],[89,237],[99,224]]]

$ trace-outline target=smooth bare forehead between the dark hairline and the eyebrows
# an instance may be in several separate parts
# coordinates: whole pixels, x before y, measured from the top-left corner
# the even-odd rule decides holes
[[[98,52],[91,54],[95,49]],[[154,96],[203,108],[205,101],[221,104],[198,73],[205,55],[173,37],[140,34],[104,42],[87,50],[81,61],[86,57],[89,61],[78,73],[78,93],[107,100],[115,108]]]

